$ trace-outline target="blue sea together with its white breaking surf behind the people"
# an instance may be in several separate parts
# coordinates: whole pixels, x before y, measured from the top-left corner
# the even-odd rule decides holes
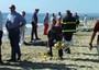
[[[4,32],[4,35],[7,34],[6,19],[7,19],[7,15],[9,13],[2,13],[2,15],[3,15],[3,32]],[[97,20],[97,19],[99,19],[99,13],[78,13],[80,21],[84,20],[85,14],[87,14],[87,19],[88,20]],[[33,15],[33,13],[26,13],[26,15],[25,15],[25,20],[26,20],[26,33],[31,33],[32,15]],[[55,15],[57,16],[57,14],[55,14]],[[64,18],[65,16],[65,13],[63,13],[62,15]],[[41,31],[44,27],[43,26],[43,20],[44,20],[45,13],[38,13],[37,16],[38,16],[38,31]],[[52,16],[52,14],[50,13],[50,18],[51,16]]]

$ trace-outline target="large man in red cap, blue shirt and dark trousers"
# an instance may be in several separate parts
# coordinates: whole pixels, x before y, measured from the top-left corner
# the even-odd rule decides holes
[[[10,14],[7,18],[7,31],[9,33],[9,39],[11,44],[11,59],[8,61],[16,61],[21,58],[20,51],[20,27],[25,24],[25,20],[15,11],[15,5],[10,7]],[[18,56],[16,56],[18,55]],[[18,58],[16,58],[18,57]]]

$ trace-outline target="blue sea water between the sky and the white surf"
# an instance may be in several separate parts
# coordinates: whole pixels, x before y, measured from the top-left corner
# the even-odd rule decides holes
[[[3,23],[6,23],[6,19],[7,19],[8,14],[9,13],[3,13]],[[84,20],[85,14],[87,14],[88,20],[97,20],[97,19],[99,19],[99,13],[79,13],[78,15],[79,15],[80,21]],[[32,13],[26,13],[25,19],[26,19],[28,24],[31,24],[32,15],[33,15]],[[57,14],[55,14],[55,15],[57,16]],[[65,13],[63,13],[62,15],[64,18]],[[43,23],[43,19],[45,16],[45,13],[38,13],[37,16],[38,16],[38,23]],[[52,16],[52,14],[50,14],[50,18],[51,16]]]

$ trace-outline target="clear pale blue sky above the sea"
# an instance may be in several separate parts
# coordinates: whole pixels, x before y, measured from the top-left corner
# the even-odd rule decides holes
[[[16,11],[34,12],[37,8],[40,13],[65,13],[66,10],[78,13],[99,13],[99,0],[0,0],[0,10],[9,12],[9,7],[15,4]]]

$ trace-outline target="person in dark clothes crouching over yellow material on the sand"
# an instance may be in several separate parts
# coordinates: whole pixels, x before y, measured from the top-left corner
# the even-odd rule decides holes
[[[51,59],[52,59],[52,57],[53,57],[52,47],[54,46],[54,40],[61,42],[63,39],[61,26],[53,26],[48,31],[47,37],[48,37],[48,47],[50,47],[50,50],[47,54],[51,56]],[[58,49],[58,57],[59,57],[59,59],[63,59],[63,49],[62,48]]]

